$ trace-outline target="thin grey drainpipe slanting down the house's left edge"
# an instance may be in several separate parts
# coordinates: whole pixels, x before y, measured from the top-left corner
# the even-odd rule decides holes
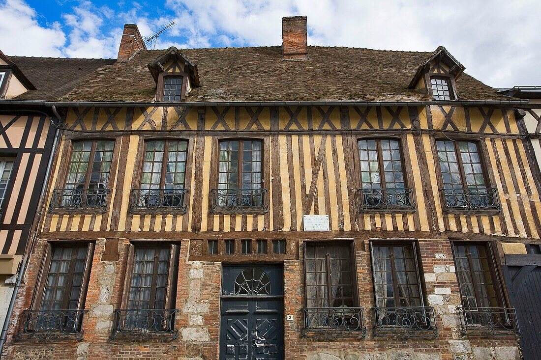
[[[61,121],[61,117],[58,114],[58,112],[56,111],[56,107],[54,105],[52,105],[52,112],[55,114],[58,121]],[[45,191],[47,190],[47,185],[49,183],[49,175],[50,175],[51,167],[52,167],[52,159],[53,159],[55,151],[56,151],[56,146],[58,144],[58,136],[59,135],[60,135],[60,130],[58,130],[58,127],[55,126],[55,138],[54,138],[54,141],[52,143],[51,155],[49,156],[49,163],[47,164],[47,170],[45,171],[45,179],[43,181],[43,186],[41,188],[41,194],[39,194],[39,203],[38,203],[38,207],[37,207],[38,212],[36,213],[36,216],[34,217],[34,224],[32,224],[32,229],[30,231],[29,245],[31,243],[33,243],[35,241],[35,239],[36,239],[36,226],[37,226],[37,222],[38,222],[39,217],[41,217],[41,216],[39,216],[39,215],[41,215],[41,214],[39,214],[39,212],[41,212],[41,209],[42,209],[42,207],[44,205],[43,204],[43,202],[44,202],[44,194],[45,194]],[[32,248],[32,246],[27,247],[28,250],[30,250],[31,248]],[[24,254],[24,256],[23,256],[21,266],[19,267],[19,273],[17,274],[17,281],[15,282],[15,287],[13,289],[13,294],[11,294],[11,301],[9,303],[8,312],[7,312],[6,316],[5,316],[4,326],[2,328],[2,334],[0,335],[0,358],[2,358],[2,351],[4,350],[4,344],[6,342],[6,339],[8,338],[9,323],[10,323],[11,315],[12,315],[12,312],[13,312],[13,308],[15,306],[15,301],[17,299],[17,293],[19,291],[19,288],[21,288],[21,284],[23,282],[23,277],[24,277],[24,272],[26,271],[26,268],[27,268],[28,258],[30,257],[29,252],[30,251],[27,251],[27,254]]]

